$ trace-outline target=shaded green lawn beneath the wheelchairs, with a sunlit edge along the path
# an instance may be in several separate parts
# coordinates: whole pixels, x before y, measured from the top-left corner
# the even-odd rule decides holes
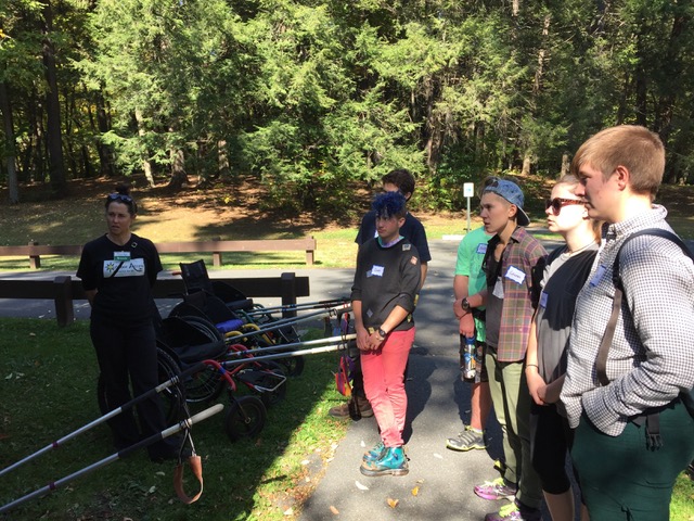
[[[87,321],[59,329],[52,321],[0,319],[0,468],[46,447],[100,417],[97,360]],[[172,463],[155,465],[144,450],[31,499],[0,519],[291,520],[319,468],[347,424],[326,416],[340,402],[332,371],[335,354],[311,355],[287,397],[268,411],[258,440],[231,443],[223,415],[193,428],[203,456],[205,492],[185,506],[175,496]],[[228,404],[222,396],[220,403]],[[200,409],[202,409],[201,407]],[[198,410],[198,409],[195,409]],[[98,425],[57,450],[0,478],[0,505],[85,468],[111,454],[107,427]],[[313,481],[307,483],[306,476]],[[189,493],[196,483],[188,481]]]

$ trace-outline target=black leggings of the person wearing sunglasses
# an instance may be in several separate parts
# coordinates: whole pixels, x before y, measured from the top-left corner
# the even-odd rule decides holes
[[[571,487],[566,473],[566,456],[573,443],[568,421],[554,404],[532,404],[530,409],[530,454],[532,468],[540,476],[542,490],[563,494]]]

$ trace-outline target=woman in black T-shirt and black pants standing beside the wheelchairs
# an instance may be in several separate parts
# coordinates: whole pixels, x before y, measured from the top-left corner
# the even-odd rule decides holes
[[[158,384],[154,321],[159,319],[152,285],[162,263],[152,241],[130,231],[138,206],[126,186],[104,201],[107,232],[82,249],[77,277],[91,305],[90,334],[111,409]],[[143,437],[166,428],[157,395],[140,402],[138,419]],[[112,418],[116,450],[140,441],[132,410]],[[168,437],[149,447],[154,461],[178,456],[179,441]]]

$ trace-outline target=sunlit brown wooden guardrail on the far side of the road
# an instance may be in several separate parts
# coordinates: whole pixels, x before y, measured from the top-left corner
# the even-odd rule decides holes
[[[316,239],[267,239],[254,241],[194,241],[194,242],[162,242],[156,244],[159,253],[211,253],[213,265],[222,265],[222,254],[229,252],[306,252],[306,264],[311,266],[314,260]],[[29,257],[29,267],[41,267],[41,255],[75,255],[82,253],[81,245],[43,245],[29,242],[26,246],[0,246],[0,257]]]

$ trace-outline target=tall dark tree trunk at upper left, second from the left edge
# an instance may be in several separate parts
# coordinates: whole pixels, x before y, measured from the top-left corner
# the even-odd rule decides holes
[[[53,31],[53,12],[51,2],[43,7],[43,66],[46,67],[46,94],[48,156],[53,193],[62,196],[65,193],[65,169],[63,166],[63,139],[61,134],[61,105],[57,93],[57,73],[55,68],[55,48],[51,41]]]

